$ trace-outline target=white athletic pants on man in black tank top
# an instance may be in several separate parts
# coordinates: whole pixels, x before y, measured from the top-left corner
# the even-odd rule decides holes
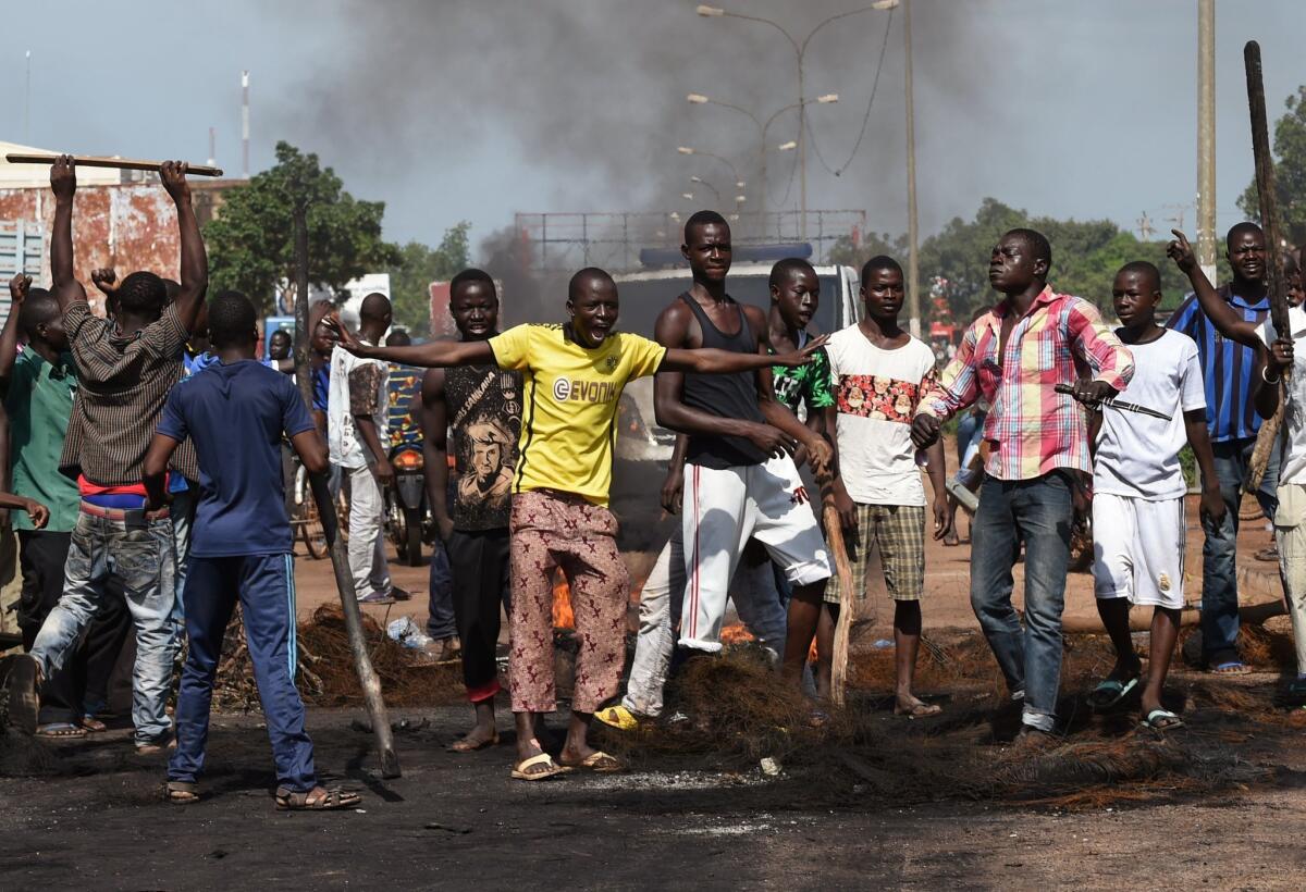
[[[680,645],[721,649],[721,620],[739,555],[761,542],[793,585],[829,579],[831,558],[789,456],[761,465],[684,468],[684,609]]]

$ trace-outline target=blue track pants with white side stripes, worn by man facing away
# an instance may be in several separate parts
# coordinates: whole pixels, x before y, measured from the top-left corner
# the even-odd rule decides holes
[[[176,701],[176,752],[168,780],[199,780],[209,739],[213,679],[236,598],[272,738],[277,784],[296,793],[316,785],[313,744],[304,731],[304,704],[295,688],[295,573],[289,554],[240,558],[191,555],[185,580],[189,652]]]

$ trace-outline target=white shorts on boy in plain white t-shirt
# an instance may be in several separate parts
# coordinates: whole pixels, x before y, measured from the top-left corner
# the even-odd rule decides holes
[[[1183,499],[1093,495],[1093,593],[1183,607]]]

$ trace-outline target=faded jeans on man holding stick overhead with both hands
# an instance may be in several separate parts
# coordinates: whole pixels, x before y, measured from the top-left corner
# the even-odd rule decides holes
[[[146,529],[128,532],[123,521],[78,515],[64,565],[64,594],[31,646],[43,674],[61,667],[101,603],[115,597],[110,582],[116,581],[136,628],[132,722],[137,743],[167,738],[172,730],[165,705],[176,657],[174,572],[171,520],[150,520]]]

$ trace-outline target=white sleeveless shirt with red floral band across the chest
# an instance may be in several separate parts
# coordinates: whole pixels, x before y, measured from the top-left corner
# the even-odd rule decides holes
[[[882,350],[849,325],[831,336],[825,353],[848,495],[868,505],[925,505],[912,418],[934,385],[934,351],[917,338]]]

